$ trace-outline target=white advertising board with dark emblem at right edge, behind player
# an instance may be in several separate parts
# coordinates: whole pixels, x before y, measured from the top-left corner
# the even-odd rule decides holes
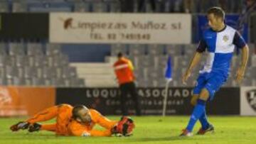
[[[242,116],[256,116],[256,87],[240,88],[240,113]]]

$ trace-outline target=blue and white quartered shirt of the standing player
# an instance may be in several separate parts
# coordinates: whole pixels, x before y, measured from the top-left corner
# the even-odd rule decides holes
[[[245,40],[240,33],[230,26],[225,26],[221,31],[213,31],[209,28],[203,33],[197,48],[197,52],[207,51],[208,55],[200,73],[220,72],[228,76],[235,46],[243,48],[245,45]]]

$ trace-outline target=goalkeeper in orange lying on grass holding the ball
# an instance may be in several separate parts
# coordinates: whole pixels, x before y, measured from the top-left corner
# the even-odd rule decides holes
[[[41,125],[38,122],[56,118],[56,123]],[[104,131],[94,130],[95,124],[104,127]],[[134,123],[131,118],[123,116],[120,121],[110,121],[95,109],[86,106],[70,106],[60,104],[37,113],[26,121],[21,121],[11,126],[11,131],[28,129],[33,131],[53,131],[56,135],[73,136],[111,136],[132,135]]]

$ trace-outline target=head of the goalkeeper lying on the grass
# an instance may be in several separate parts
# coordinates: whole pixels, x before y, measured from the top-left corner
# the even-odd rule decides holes
[[[74,106],[72,110],[72,118],[75,119],[75,121],[82,123],[90,123],[92,121],[91,113],[84,105]]]

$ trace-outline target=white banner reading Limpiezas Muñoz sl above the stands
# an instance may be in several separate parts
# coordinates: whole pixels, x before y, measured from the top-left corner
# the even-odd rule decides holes
[[[191,43],[190,14],[50,13],[50,43]]]

